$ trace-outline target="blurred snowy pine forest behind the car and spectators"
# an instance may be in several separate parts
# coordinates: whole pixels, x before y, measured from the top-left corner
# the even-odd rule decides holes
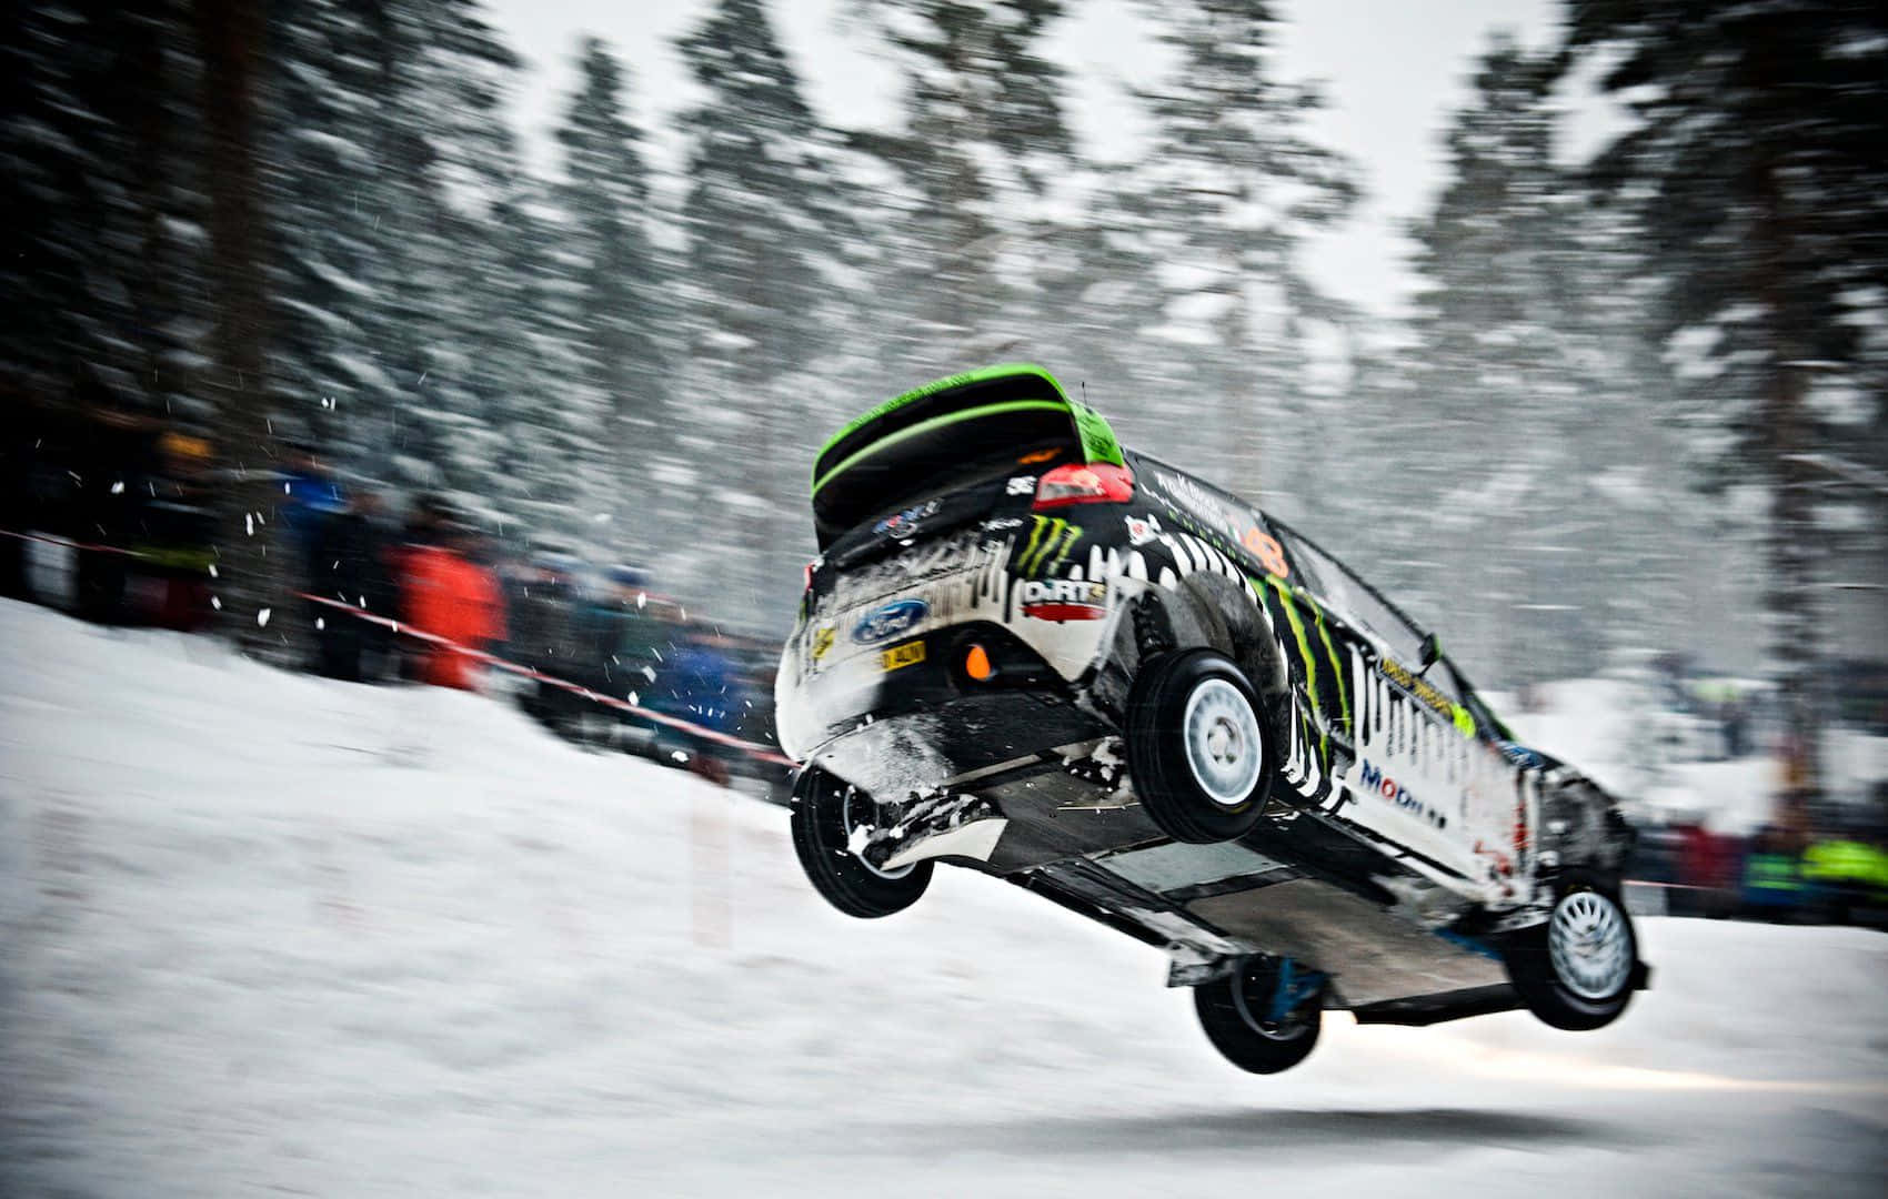
[[[670,177],[597,40],[531,170],[472,0],[9,0],[0,402],[104,383],[236,481],[308,440],[780,633],[823,436],[1027,359],[1486,684],[1884,657],[1888,9],[1571,0],[1556,47],[1492,36],[1386,321],[1303,272],[1371,164],[1306,132],[1280,9],[1150,2],[1178,66],[1135,98],[1148,153],[1103,164],[1042,53],[1078,4],[855,6],[904,81],[855,127],[767,4],[704,0]],[[1637,121],[1567,166],[1556,85],[1595,60]],[[266,504],[230,485],[232,553]]]

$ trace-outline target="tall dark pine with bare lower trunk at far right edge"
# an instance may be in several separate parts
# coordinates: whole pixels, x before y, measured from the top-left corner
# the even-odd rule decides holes
[[[1720,481],[1769,491],[1763,606],[1794,725],[1792,782],[1814,787],[1822,655],[1816,504],[1822,466],[1879,427],[1888,313],[1888,15],[1820,0],[1575,0],[1571,40],[1622,51],[1605,87],[1641,125],[1595,179],[1648,232],[1658,330],[1718,429]],[[1873,391],[1869,391],[1873,387]]]

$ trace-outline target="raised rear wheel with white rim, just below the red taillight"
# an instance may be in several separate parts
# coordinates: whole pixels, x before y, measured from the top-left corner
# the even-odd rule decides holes
[[[1201,718],[1195,710],[1199,719],[1189,733],[1195,697],[1212,704],[1212,712]],[[1244,836],[1259,823],[1273,789],[1274,735],[1252,684],[1225,655],[1182,650],[1142,667],[1127,697],[1125,723],[1135,795],[1161,833],[1212,844]],[[1189,750],[1189,736],[1206,735],[1201,729],[1222,735],[1220,744],[1231,746],[1237,767],[1235,759],[1212,757],[1205,742]],[[1214,774],[1222,765],[1225,768]],[[1242,785],[1246,778],[1250,785]]]

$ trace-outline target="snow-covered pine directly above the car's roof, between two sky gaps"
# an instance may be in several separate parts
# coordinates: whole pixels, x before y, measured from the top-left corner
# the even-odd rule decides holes
[[[1154,145],[1138,181],[1169,291],[1171,387],[1214,404],[1227,436],[1201,448],[1208,470],[1276,504],[1312,478],[1293,478],[1318,436],[1303,404],[1306,325],[1344,319],[1299,268],[1299,245],[1344,217],[1356,185],[1348,162],[1305,134],[1316,91],[1274,77],[1269,0],[1150,11],[1178,57],[1165,85],[1142,94]]]

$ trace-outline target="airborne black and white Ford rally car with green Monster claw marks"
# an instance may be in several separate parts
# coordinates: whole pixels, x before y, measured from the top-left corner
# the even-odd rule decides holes
[[[1037,366],[929,383],[814,468],[778,676],[793,844],[851,916],[970,867],[1163,948],[1235,1065],[1325,1008],[1612,1022],[1631,831],[1297,531],[1121,449]]]

